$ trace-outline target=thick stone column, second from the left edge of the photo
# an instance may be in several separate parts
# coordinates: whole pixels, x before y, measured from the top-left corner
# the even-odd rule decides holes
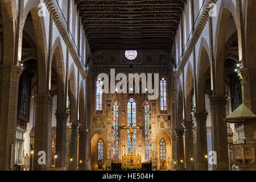
[[[52,96],[38,94],[35,103],[34,171],[48,171],[52,160]]]

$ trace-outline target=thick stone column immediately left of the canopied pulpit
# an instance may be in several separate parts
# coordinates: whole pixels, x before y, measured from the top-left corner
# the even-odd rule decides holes
[[[229,171],[228,155],[228,130],[226,118],[226,96],[210,97],[210,108],[212,110],[212,150],[217,152],[217,165],[213,170]]]

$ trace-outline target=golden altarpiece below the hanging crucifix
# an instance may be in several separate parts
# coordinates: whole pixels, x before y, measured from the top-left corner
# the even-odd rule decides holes
[[[131,151],[129,154],[122,156],[122,169],[123,170],[141,170],[141,156],[133,154]]]

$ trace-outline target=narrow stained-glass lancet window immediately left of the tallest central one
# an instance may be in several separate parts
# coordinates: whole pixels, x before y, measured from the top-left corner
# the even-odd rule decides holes
[[[114,105],[114,117],[113,117],[113,134],[114,134],[114,146],[113,146],[113,152],[114,152],[114,160],[118,160],[118,105],[117,102],[115,102]]]

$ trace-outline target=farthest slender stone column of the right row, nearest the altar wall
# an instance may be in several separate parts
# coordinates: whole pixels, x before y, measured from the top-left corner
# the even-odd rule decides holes
[[[177,136],[177,163],[179,171],[184,171],[185,166],[185,158],[184,158],[184,129],[182,127],[178,127],[178,129],[175,130],[176,136]]]

